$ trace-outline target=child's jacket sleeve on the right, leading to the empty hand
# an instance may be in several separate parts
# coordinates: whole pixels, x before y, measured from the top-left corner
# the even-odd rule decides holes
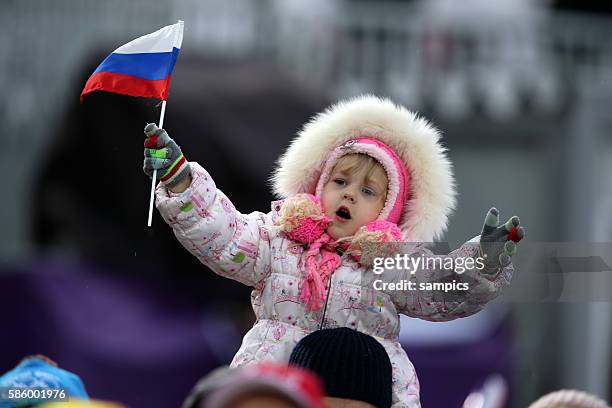
[[[480,236],[448,255],[434,255],[424,245],[410,248],[408,257],[421,259],[418,267],[402,265],[401,269],[385,271],[381,276],[384,282],[411,282],[410,289],[386,291],[397,311],[411,317],[448,321],[477,313],[501,294],[514,272],[512,263],[493,270],[478,268],[484,263]],[[384,277],[385,274],[388,276]]]

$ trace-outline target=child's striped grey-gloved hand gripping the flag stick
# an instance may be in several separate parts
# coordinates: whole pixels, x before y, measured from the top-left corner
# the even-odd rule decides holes
[[[180,147],[155,123],[145,126],[144,132],[147,135],[142,166],[145,174],[152,178],[153,170],[157,169],[157,178],[166,187],[176,192],[184,191],[189,186],[191,171]]]

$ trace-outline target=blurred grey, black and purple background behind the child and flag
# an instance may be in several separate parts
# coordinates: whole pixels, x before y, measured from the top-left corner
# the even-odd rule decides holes
[[[177,406],[250,327],[246,288],[190,259],[158,215],[146,228],[141,132],[158,121],[157,102],[96,93],[78,103],[115,48],[185,21],[165,127],[243,212],[269,208],[274,160],[310,116],[374,93],[443,132],[459,191],[452,248],[479,233],[492,205],[521,217],[522,244],[610,243],[605,4],[3,0],[0,372],[45,353],[93,396]],[[611,300],[406,319],[423,406],[461,406],[487,389],[506,389],[508,407],[559,388],[609,399]]]

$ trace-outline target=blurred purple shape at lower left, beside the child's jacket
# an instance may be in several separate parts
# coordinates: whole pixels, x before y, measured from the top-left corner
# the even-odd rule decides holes
[[[222,312],[204,317],[180,293],[100,272],[74,263],[0,265],[0,372],[42,353],[78,374],[92,398],[167,408],[237,350],[239,335]]]

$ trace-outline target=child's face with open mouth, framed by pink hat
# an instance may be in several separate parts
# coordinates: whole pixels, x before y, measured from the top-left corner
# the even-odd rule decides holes
[[[341,158],[321,195],[325,214],[332,219],[327,233],[335,240],[355,235],[361,226],[377,219],[387,198],[383,167],[375,161],[364,165],[350,156],[363,155]]]

